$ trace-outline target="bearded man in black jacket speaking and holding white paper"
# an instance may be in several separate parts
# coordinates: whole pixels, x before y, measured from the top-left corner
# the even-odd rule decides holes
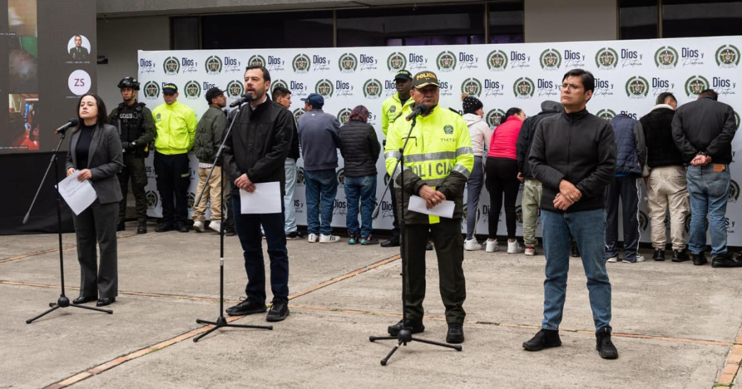
[[[266,269],[263,262],[263,239],[260,226],[266,233],[268,256],[271,262],[271,291],[273,304],[266,316],[269,322],[278,322],[289,316],[289,254],[286,250],[286,231],[283,230],[283,212],[241,214],[240,189],[255,192],[255,184],[278,182],[280,195],[285,193],[283,163],[291,147],[294,116],[266,94],[271,76],[265,67],[249,66],[245,72],[245,93],[252,95],[249,104],[232,111],[234,122],[226,140],[224,161],[232,188],[232,207],[237,236],[240,238],[245,270],[247,272],[246,299],[229,307],[230,316],[265,312]],[[283,205],[282,205],[283,208]]]

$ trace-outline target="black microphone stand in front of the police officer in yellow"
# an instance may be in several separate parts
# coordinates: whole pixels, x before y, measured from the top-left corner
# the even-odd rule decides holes
[[[412,136],[413,128],[415,128],[415,125],[417,124],[417,116],[413,117],[412,119],[412,125],[410,126],[410,132],[407,133],[407,139],[404,140],[404,144],[402,144],[402,147],[399,148],[399,157],[397,158],[397,163],[394,165],[394,169],[392,170],[392,173],[394,174],[395,171],[397,171],[397,167],[401,166],[401,181],[404,184],[404,149],[407,148],[407,142],[410,142],[410,136]],[[387,194],[387,190],[389,190],[390,185],[394,182],[394,176],[392,176],[387,182],[387,187],[384,188],[384,195],[381,196],[383,199],[384,196]],[[392,193],[392,196],[395,196],[395,193]],[[400,205],[402,208],[402,212],[399,217],[399,256],[402,259],[402,273],[400,274],[402,276],[402,323],[407,322],[407,313],[405,311],[405,297],[407,295],[407,259],[404,258],[404,241],[405,236],[404,232],[406,229],[407,223],[404,221],[404,188],[402,189],[402,198],[400,200]],[[381,207],[381,202],[376,206],[376,209],[374,210],[374,213],[372,217],[375,219],[376,216],[378,216],[379,207]],[[410,342],[421,342],[421,343],[427,343],[428,345],[435,345],[440,346],[444,348],[453,348],[453,350],[461,351],[462,346],[460,345],[447,345],[445,343],[440,342],[433,342],[431,340],[426,339],[419,339],[413,336],[412,328],[410,327],[404,327],[401,330],[399,330],[399,333],[397,336],[369,336],[369,341],[374,342],[376,340],[390,340],[390,339],[396,339],[397,344],[392,348],[392,350],[387,354],[387,356],[384,357],[384,359],[381,359],[381,366],[386,366],[387,361],[392,357],[392,355],[395,353],[395,351],[399,348],[399,346],[406,346],[407,343]]]

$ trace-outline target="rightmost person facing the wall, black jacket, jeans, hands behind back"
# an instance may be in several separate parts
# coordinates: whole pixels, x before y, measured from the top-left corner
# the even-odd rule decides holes
[[[712,267],[742,267],[726,249],[726,202],[729,200],[729,163],[737,124],[729,105],[717,102],[714,90],[700,91],[698,99],[677,108],[672,137],[688,163],[686,179],[691,195],[688,248],[693,265],[706,264],[706,216],[709,217]]]

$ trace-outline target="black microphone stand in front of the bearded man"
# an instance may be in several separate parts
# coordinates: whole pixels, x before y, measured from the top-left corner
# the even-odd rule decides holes
[[[232,125],[234,125],[234,120],[237,119],[237,116],[240,115],[240,107],[237,107],[237,111],[234,113],[234,119],[232,119],[232,122],[229,123],[229,127],[227,128],[227,132],[224,134],[224,137],[222,139],[222,144],[219,145],[219,149],[217,150],[216,156],[214,156],[214,164],[211,165],[211,170],[209,171],[209,176],[206,176],[206,182],[209,182],[209,179],[211,179],[211,174],[214,173],[214,169],[217,167],[217,162],[219,162],[220,157],[222,156],[222,153],[224,151],[224,143],[226,142],[227,138],[229,137],[229,134],[232,133]],[[221,166],[219,167],[222,168]],[[220,187],[222,188],[221,191],[221,200],[222,200],[222,206],[224,204],[224,173],[222,172],[221,175],[221,182]],[[201,196],[203,196],[203,191],[206,190],[208,185],[203,185],[203,188],[201,189],[201,192],[198,194],[198,197],[196,199],[195,204],[199,204],[201,202]],[[219,317],[217,318],[216,322],[209,322],[207,320],[201,320],[196,319],[196,322],[198,324],[203,325],[213,325],[214,328],[211,328],[207,330],[205,333],[200,334],[199,336],[196,336],[193,341],[198,342],[201,338],[203,338],[206,335],[209,335],[209,333],[214,332],[215,330],[218,330],[219,328],[223,327],[235,327],[235,328],[257,328],[259,330],[272,330],[272,325],[233,325],[227,322],[227,319],[224,317],[224,212],[222,212],[222,218],[220,220],[220,228],[219,228]]]

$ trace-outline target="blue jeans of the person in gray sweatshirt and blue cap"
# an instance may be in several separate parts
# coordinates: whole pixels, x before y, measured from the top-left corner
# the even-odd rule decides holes
[[[332,207],[338,194],[338,179],[335,169],[304,170],[306,187],[306,230],[308,233],[332,233]],[[322,222],[320,223],[320,202]]]

